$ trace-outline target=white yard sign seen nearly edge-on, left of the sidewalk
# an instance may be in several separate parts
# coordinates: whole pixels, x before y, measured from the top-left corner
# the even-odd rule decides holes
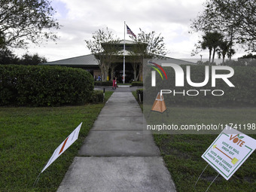
[[[64,151],[66,151],[67,148],[70,147],[70,145],[73,144],[78,139],[78,134],[81,129],[82,123],[78,125],[78,127],[62,142],[62,144],[59,145],[58,148],[53,152],[53,155],[50,157],[50,160],[44,166],[44,169],[41,170],[41,172],[44,172],[45,169],[47,169],[48,166],[50,166],[51,163],[53,163],[56,158],[58,158]]]

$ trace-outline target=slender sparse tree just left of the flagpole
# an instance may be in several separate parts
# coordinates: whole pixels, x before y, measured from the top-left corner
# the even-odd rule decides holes
[[[87,47],[93,53],[99,63],[99,69],[102,74],[102,81],[107,80],[108,71],[111,67],[111,62],[117,58],[118,48],[115,46],[120,42],[117,37],[114,37],[113,32],[99,29],[93,33],[93,40],[85,40]]]

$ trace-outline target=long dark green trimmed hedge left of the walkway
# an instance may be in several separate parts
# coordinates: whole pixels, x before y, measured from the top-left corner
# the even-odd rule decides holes
[[[60,66],[0,66],[0,105],[55,106],[87,102],[93,76]]]

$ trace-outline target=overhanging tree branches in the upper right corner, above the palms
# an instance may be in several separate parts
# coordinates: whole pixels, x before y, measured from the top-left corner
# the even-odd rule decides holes
[[[209,0],[191,28],[195,32],[218,30],[230,41],[255,51],[256,4],[254,0]]]

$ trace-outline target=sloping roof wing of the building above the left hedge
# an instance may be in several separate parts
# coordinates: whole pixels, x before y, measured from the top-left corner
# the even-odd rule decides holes
[[[74,67],[97,67],[99,63],[93,54],[75,56],[68,59],[61,59],[53,62],[45,62],[40,65],[46,66],[74,66]]]

